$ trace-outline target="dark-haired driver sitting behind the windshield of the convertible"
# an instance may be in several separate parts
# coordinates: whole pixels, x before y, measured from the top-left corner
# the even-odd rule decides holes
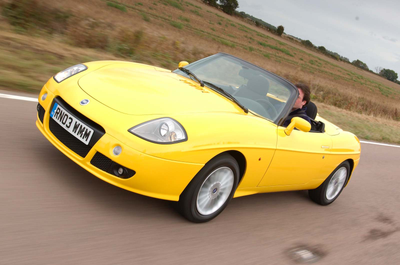
[[[305,84],[296,84],[295,86],[299,90],[299,97],[296,99],[296,102],[293,105],[292,112],[290,112],[286,117],[286,120],[283,123],[284,127],[287,127],[294,117],[303,118],[311,124],[310,117],[308,117],[306,114],[307,104],[310,102],[310,88]]]

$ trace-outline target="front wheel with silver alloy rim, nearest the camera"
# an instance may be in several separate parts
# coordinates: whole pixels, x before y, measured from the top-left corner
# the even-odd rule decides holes
[[[178,210],[194,223],[208,222],[228,205],[239,181],[239,166],[229,154],[209,161],[181,194]]]

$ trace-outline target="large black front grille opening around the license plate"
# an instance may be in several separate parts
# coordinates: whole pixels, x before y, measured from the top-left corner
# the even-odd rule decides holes
[[[78,118],[81,122],[85,123],[87,126],[89,126],[91,129],[94,130],[93,136],[90,139],[89,144],[86,145],[77,138],[75,138],[72,134],[67,132],[51,117],[49,119],[49,128],[50,131],[53,133],[53,135],[57,137],[57,139],[60,140],[60,142],[62,142],[65,146],[74,151],[76,154],[78,154],[81,157],[85,157],[89,153],[90,149],[92,149],[92,147],[96,144],[96,142],[105,134],[104,129],[97,123],[93,122],[92,120],[88,119],[87,117],[83,116],[81,113],[73,109],[60,97],[57,97],[53,101],[50,111],[53,109],[55,103],[58,103],[64,109],[72,113],[75,116],[75,118]]]

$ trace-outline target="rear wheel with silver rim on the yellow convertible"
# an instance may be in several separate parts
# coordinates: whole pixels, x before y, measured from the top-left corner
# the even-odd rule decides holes
[[[320,205],[329,205],[339,197],[350,176],[348,161],[340,164],[318,188],[309,190],[310,199]]]

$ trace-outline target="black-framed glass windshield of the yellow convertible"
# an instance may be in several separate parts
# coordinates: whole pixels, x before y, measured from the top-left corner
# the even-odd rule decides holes
[[[289,82],[227,54],[216,54],[185,66],[205,83],[231,94],[252,112],[277,122],[291,106],[296,89]],[[180,75],[191,78],[177,69]],[[210,85],[206,86],[213,88]],[[284,113],[286,114],[286,113]]]

